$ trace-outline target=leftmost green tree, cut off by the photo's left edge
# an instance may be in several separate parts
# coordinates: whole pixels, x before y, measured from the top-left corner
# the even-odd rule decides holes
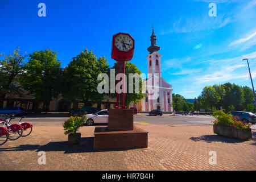
[[[13,54],[1,55],[5,57],[0,60],[0,98],[4,99],[6,94],[21,94],[18,82],[18,76],[23,72],[23,59],[25,56],[20,54],[17,47]],[[0,107],[3,107],[3,100],[0,100]]]

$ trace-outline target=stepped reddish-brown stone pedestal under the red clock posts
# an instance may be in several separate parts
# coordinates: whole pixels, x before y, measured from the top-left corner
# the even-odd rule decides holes
[[[148,132],[133,125],[133,110],[109,109],[108,127],[96,127],[94,150],[146,148]]]

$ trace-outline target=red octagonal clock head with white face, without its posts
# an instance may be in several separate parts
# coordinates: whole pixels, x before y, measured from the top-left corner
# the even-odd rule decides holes
[[[125,33],[113,35],[111,58],[116,61],[129,61],[133,58],[134,39]]]

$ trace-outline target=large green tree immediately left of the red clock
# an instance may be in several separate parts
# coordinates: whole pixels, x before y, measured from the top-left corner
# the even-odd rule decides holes
[[[97,77],[100,73],[107,73],[108,67],[105,57],[97,59],[92,51],[81,51],[64,69],[61,84],[63,97],[71,102],[82,100],[85,105],[88,105],[89,100],[100,104],[104,94],[98,93],[97,87],[101,81]]]

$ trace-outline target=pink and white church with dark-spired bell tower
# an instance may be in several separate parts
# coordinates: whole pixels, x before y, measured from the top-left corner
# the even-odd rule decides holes
[[[150,52],[147,56],[148,77],[144,80],[146,82],[147,97],[138,104],[131,103],[131,106],[137,107],[138,111],[160,109],[163,112],[172,112],[172,85],[168,84],[162,77],[162,55],[158,52],[160,47],[156,46],[154,28],[150,38],[151,46],[147,48],[148,52]],[[152,93],[152,90],[154,93]]]

